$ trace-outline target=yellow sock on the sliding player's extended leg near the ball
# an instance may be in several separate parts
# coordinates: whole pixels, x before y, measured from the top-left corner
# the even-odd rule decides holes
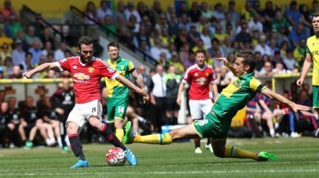
[[[149,143],[149,144],[170,144],[172,139],[169,133],[166,134],[152,134],[146,136],[135,135],[133,142]]]

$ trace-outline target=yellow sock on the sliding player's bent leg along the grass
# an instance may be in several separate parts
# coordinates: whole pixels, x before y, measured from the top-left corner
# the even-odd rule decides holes
[[[235,146],[225,147],[225,158],[251,158],[259,160],[257,153],[246,151]]]

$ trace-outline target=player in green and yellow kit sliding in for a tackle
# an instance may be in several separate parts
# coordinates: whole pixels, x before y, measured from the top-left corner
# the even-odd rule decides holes
[[[219,158],[250,158],[254,160],[278,160],[273,154],[267,152],[250,152],[236,146],[226,146],[227,133],[232,118],[237,111],[259,92],[273,100],[287,104],[294,111],[309,110],[310,107],[297,105],[285,97],[274,93],[263,86],[255,78],[256,59],[252,53],[238,53],[234,66],[226,58],[217,58],[223,61],[237,78],[220,93],[211,111],[202,120],[196,120],[190,125],[175,129],[166,134],[152,134],[140,136],[133,132],[131,123],[125,125],[126,135],[124,143],[170,144],[182,139],[211,138],[213,153]]]

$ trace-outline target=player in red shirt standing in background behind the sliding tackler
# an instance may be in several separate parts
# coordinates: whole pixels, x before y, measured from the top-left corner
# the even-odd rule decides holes
[[[199,120],[205,118],[205,116],[211,111],[213,105],[210,99],[210,92],[213,91],[215,98],[217,97],[217,85],[215,84],[215,74],[213,68],[205,64],[206,54],[204,51],[197,51],[196,64],[192,65],[185,72],[183,80],[179,85],[177,104],[181,103],[181,93],[185,88],[185,84],[190,84],[190,111],[191,119]],[[211,140],[207,140],[206,148],[209,148],[213,152]],[[200,139],[194,139],[195,153],[202,153],[200,149]]]

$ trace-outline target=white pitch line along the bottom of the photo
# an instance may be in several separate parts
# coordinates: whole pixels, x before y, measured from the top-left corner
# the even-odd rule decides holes
[[[234,170],[234,171],[153,171],[153,172],[117,172],[117,173],[109,173],[109,172],[83,172],[83,173],[24,173],[24,174],[0,174],[0,176],[65,176],[65,175],[139,175],[139,174],[173,174],[173,175],[184,175],[184,174],[232,174],[232,173],[278,173],[278,172],[319,172],[318,169],[292,169],[292,170],[252,170],[252,171],[243,171],[243,170]]]

